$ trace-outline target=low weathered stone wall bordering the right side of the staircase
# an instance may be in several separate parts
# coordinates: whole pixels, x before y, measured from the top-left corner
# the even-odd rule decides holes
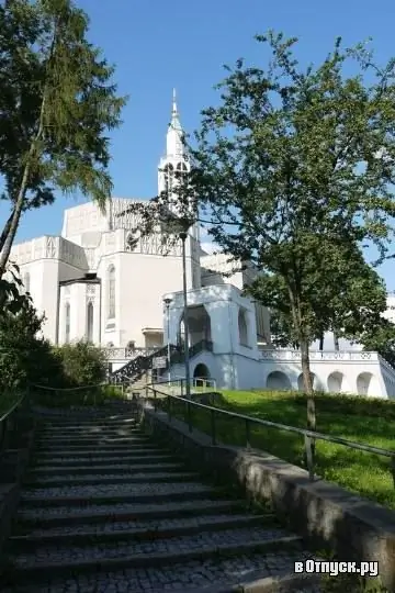
[[[257,502],[268,502],[279,518],[316,549],[328,548],[341,560],[379,560],[385,586],[395,591],[395,513],[316,479],[263,451],[213,446],[211,438],[163,412],[143,406],[144,429],[188,458],[190,466]]]

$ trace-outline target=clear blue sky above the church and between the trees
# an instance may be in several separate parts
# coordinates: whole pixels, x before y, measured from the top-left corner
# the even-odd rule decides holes
[[[122,127],[112,135],[111,174],[115,197],[150,198],[157,189],[157,165],[165,149],[172,88],[177,88],[184,128],[199,126],[200,111],[216,101],[213,86],[223,64],[245,57],[266,65],[256,33],[268,29],[300,37],[302,61],[318,61],[342,36],[348,45],[369,36],[376,57],[395,55],[394,0],[79,0],[91,18],[91,41],[116,65],[120,92],[129,94]],[[56,204],[27,213],[18,240],[58,234],[63,210],[80,200],[59,198]],[[7,215],[0,205],[0,222]],[[395,264],[381,272],[395,290]]]

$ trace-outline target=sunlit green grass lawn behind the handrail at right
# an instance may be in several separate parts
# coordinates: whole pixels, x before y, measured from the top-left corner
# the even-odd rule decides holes
[[[215,404],[239,414],[275,423],[306,427],[306,399],[301,393],[222,391]],[[185,419],[184,404],[177,415]],[[395,450],[395,402],[348,395],[316,395],[317,430],[356,443]],[[210,433],[211,417],[204,410],[193,411],[193,424]],[[225,444],[246,444],[245,423],[222,417],[216,421],[217,439]],[[250,429],[250,444],[300,467],[304,466],[303,436],[271,427]],[[316,444],[316,473],[381,504],[395,508],[391,462],[374,454],[352,450],[323,440]]]

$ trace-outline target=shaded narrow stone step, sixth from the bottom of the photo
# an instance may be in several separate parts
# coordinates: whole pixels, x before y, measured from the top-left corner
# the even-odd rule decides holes
[[[191,471],[179,472],[133,472],[133,473],[84,473],[83,475],[68,474],[68,475],[50,475],[50,477],[35,477],[30,475],[24,480],[24,486],[30,488],[45,488],[45,486],[65,486],[65,485],[89,485],[89,484],[133,484],[138,482],[188,482],[191,480],[199,480],[200,475]]]

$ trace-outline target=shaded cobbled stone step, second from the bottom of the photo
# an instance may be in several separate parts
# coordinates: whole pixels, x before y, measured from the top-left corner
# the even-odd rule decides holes
[[[38,546],[34,551],[10,555],[9,567],[15,581],[36,574],[70,573],[121,568],[160,567],[204,558],[233,557],[257,551],[301,549],[302,538],[283,529],[264,527],[203,532],[168,539],[123,541],[90,546]]]

